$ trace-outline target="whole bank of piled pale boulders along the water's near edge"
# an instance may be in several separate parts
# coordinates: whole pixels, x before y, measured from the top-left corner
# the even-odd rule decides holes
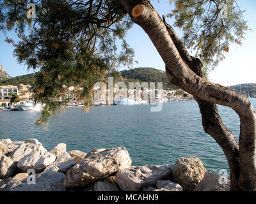
[[[36,139],[0,140],[0,191],[230,191],[230,180],[197,157],[132,166],[125,147],[67,152],[46,150]]]

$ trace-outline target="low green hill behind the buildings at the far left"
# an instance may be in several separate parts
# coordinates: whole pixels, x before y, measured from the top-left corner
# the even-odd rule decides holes
[[[29,75],[22,75],[18,77],[9,78],[0,81],[0,85],[18,85],[18,84],[34,84],[35,83],[35,73]]]

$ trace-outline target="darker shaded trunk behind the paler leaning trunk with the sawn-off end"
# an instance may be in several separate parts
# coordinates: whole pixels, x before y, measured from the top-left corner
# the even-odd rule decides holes
[[[164,17],[163,17],[164,18]],[[182,41],[173,30],[172,26],[166,24],[170,36],[175,44],[177,50],[182,59],[188,64],[189,68],[194,71],[199,77],[202,76],[202,62],[199,59],[191,57],[186,50]],[[166,70],[168,71],[168,69]],[[233,133],[223,124],[220,115],[218,114],[218,108],[214,103],[209,103],[200,98],[195,98],[195,101],[198,103],[200,108],[200,113],[202,115],[202,125],[204,127],[205,133],[216,140],[220,145],[221,149],[227,157],[228,166],[230,169],[230,190],[231,191],[241,191],[241,188],[238,185],[239,179],[239,149],[238,143],[236,141]]]

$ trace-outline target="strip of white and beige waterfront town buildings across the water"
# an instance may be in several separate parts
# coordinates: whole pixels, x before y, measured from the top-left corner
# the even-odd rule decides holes
[[[82,101],[79,101],[74,95],[74,87],[69,87],[68,92],[66,94],[68,98],[67,106],[79,106],[83,105]],[[99,94],[100,92],[100,94]],[[186,92],[182,90],[138,90],[138,93],[134,91],[134,97],[130,96],[131,91],[129,89],[118,89],[115,87],[114,94],[115,98],[113,101],[109,100],[106,92],[109,90],[101,91],[99,87],[93,89],[93,104],[94,105],[136,105],[136,104],[147,104],[147,103],[156,103],[156,102],[171,102],[171,101],[187,101],[192,100],[192,96],[189,96]],[[153,100],[150,101],[150,97],[147,100],[141,99],[143,95],[147,94],[150,96],[151,94],[154,96],[153,92],[157,92],[156,96]],[[128,93],[128,94],[126,94]],[[19,102],[12,103],[11,99],[13,94],[17,95],[19,98]],[[138,97],[139,96],[139,97]],[[22,110],[18,108],[20,105],[24,103],[31,103],[33,97],[33,92],[31,92],[31,85],[3,85],[0,86],[0,110]],[[28,102],[30,101],[30,102]]]

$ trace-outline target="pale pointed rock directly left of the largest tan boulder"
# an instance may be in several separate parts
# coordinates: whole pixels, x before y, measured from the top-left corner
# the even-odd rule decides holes
[[[67,173],[67,171],[70,170],[70,168],[72,168],[74,165],[76,165],[76,161],[74,161],[68,152],[62,152],[56,161],[49,165],[49,168],[54,166],[58,168],[58,171]]]

